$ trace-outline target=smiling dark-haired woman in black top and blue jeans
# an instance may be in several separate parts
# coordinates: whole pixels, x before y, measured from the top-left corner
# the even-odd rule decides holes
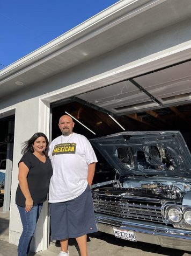
[[[25,256],[30,250],[42,204],[47,199],[53,169],[48,157],[48,139],[45,134],[35,133],[30,140],[24,142],[21,153],[23,157],[18,163],[16,204],[23,232],[19,240],[18,256]]]

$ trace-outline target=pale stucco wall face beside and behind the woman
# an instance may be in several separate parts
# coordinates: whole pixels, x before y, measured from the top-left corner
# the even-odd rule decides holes
[[[21,143],[38,132],[39,103],[38,98],[20,102],[16,105],[14,128],[11,211],[10,211],[10,242],[18,244],[22,231],[19,212],[15,204],[15,192],[18,185],[18,161],[21,158]]]

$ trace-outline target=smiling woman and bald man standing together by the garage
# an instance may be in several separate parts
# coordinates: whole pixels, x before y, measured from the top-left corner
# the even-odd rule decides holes
[[[63,115],[62,132],[52,141],[35,133],[24,143],[19,161],[16,204],[23,224],[18,256],[25,256],[49,190],[52,240],[60,240],[58,256],[69,256],[68,239],[76,238],[80,255],[87,256],[87,235],[97,231],[91,184],[97,158],[90,142],[73,132],[74,122]]]

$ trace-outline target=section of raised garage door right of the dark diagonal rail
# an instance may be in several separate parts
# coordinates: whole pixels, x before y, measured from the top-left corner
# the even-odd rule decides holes
[[[164,106],[191,99],[191,61],[134,80]]]

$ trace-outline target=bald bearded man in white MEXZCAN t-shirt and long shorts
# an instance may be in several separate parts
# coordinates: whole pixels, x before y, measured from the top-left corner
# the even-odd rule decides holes
[[[90,188],[97,158],[86,137],[73,132],[70,116],[61,116],[58,126],[62,135],[49,149],[53,165],[49,189],[52,240],[61,242],[58,256],[69,256],[69,238],[76,238],[80,255],[87,256],[86,234],[97,231]]]

